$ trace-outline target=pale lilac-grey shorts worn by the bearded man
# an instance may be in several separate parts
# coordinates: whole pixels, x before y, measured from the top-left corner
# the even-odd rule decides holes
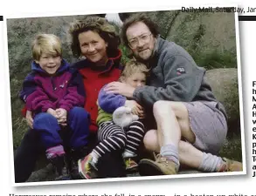
[[[183,103],[190,118],[190,129],[196,136],[194,144],[203,152],[218,154],[225,142],[227,124],[225,115],[216,108],[216,102]]]

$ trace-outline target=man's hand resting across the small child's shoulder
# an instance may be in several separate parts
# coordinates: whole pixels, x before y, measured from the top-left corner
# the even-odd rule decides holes
[[[135,88],[130,86],[129,84],[113,82],[107,84],[104,91],[107,91],[107,93],[120,94],[126,98],[133,98]]]

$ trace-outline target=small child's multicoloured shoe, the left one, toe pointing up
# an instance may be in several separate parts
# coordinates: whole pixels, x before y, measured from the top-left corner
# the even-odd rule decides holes
[[[78,162],[80,176],[83,179],[96,179],[97,178],[97,167],[93,163],[93,156],[88,154],[85,159],[80,159]]]

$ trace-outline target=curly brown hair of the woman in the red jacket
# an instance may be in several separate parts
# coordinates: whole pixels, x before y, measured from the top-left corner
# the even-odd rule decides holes
[[[81,50],[79,35],[87,30],[97,32],[100,37],[107,42],[107,55],[116,53],[118,46],[121,43],[121,39],[116,32],[114,25],[109,24],[104,17],[86,17],[85,20],[77,20],[70,25],[69,33],[72,39],[71,49],[73,51],[73,56],[80,57]]]

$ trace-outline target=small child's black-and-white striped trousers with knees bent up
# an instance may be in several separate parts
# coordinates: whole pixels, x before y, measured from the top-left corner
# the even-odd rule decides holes
[[[124,129],[115,125],[113,121],[103,122],[98,131],[100,143],[93,152],[100,157],[106,152],[121,149],[136,154],[144,134],[144,125],[140,121],[134,121]]]

